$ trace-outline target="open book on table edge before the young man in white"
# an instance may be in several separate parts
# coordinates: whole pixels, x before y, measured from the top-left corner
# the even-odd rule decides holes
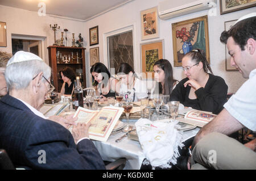
[[[203,127],[205,124],[212,121],[217,115],[214,115],[212,112],[207,111],[199,111],[199,110],[192,110],[188,111],[184,117],[177,117],[176,120],[196,125],[197,127]]]

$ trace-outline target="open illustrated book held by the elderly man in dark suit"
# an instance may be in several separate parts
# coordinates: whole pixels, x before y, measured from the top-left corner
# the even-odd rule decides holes
[[[123,113],[122,107],[103,107],[100,111],[92,111],[79,107],[74,115],[76,123],[89,123],[89,138],[106,142]],[[72,133],[72,127],[69,128]]]

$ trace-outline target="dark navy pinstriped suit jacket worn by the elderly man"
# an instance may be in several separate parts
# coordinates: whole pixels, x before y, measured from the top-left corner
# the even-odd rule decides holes
[[[36,116],[10,95],[0,99],[0,148],[7,151],[16,166],[105,169],[92,141],[85,139],[76,145],[72,134],[62,125]],[[46,163],[42,163],[42,153],[46,153]]]

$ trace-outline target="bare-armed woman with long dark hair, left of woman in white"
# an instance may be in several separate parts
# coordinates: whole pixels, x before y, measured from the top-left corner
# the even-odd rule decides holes
[[[100,92],[101,100],[107,100],[110,96],[115,96],[115,87],[118,87],[118,80],[111,77],[108,68],[101,62],[97,62],[90,68],[92,74],[93,86],[96,86],[96,91]]]

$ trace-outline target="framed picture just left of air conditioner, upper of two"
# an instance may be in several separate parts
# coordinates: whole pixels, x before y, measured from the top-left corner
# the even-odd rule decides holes
[[[142,40],[159,37],[157,7],[141,11],[141,29]]]

